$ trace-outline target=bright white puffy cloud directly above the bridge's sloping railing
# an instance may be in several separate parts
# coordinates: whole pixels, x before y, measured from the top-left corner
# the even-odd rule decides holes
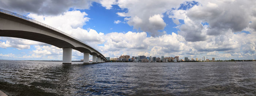
[[[85,43],[104,42],[104,39],[102,39],[103,33],[98,33],[93,29],[89,29],[89,31],[82,29],[83,25],[90,20],[90,18],[85,17],[87,16],[87,13],[85,12],[68,11],[57,16],[42,16],[30,13],[28,16],[57,28],[79,40],[84,41]]]

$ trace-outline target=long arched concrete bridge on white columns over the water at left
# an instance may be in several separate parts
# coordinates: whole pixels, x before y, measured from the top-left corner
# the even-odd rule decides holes
[[[62,48],[63,64],[71,64],[72,49],[84,54],[83,63],[89,63],[90,55],[93,56],[93,63],[108,61],[83,41],[49,25],[4,9],[0,9],[0,36],[34,40]]]

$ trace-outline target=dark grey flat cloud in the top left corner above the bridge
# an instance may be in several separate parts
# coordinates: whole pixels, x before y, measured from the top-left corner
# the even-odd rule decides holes
[[[59,15],[69,8],[89,9],[91,3],[97,0],[1,0],[0,6],[11,12],[38,15]]]

